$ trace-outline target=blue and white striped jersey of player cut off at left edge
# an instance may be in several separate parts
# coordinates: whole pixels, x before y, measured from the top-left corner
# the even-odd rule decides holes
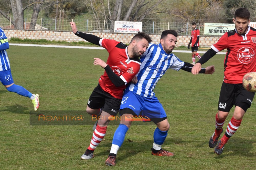
[[[5,43],[5,39],[7,39],[7,37],[4,33],[4,30],[0,27],[0,42],[1,42],[0,44],[1,45]],[[10,63],[7,57],[7,53],[5,49],[1,49],[1,48],[0,48],[0,61],[1,61],[0,71],[8,70],[10,68]]]

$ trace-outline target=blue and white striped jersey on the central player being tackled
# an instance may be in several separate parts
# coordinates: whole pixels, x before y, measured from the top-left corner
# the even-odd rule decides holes
[[[184,62],[176,57],[173,53],[167,54],[161,44],[150,43],[146,52],[140,58],[141,66],[136,84],[129,83],[125,90],[152,98],[156,83],[164,75],[168,68],[179,70],[184,66]]]

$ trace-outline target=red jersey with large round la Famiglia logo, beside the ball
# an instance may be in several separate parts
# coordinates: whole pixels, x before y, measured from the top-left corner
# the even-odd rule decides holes
[[[256,29],[249,26],[245,35],[236,29],[226,32],[211,48],[216,52],[228,50],[224,60],[225,83],[242,83],[246,73],[256,72]]]

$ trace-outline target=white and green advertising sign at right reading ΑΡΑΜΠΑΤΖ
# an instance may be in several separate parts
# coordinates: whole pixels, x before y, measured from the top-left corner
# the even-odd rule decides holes
[[[235,24],[226,23],[205,23],[205,35],[223,35],[225,32],[235,29]]]

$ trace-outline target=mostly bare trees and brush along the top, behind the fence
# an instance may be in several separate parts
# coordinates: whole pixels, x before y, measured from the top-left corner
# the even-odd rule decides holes
[[[23,29],[24,11],[29,11],[31,30],[42,11],[44,17],[58,17],[59,10],[65,11],[65,18],[90,14],[91,19],[110,21],[112,32],[114,21],[232,23],[240,7],[248,8],[251,21],[256,21],[256,0],[1,0],[0,14],[15,29]]]

